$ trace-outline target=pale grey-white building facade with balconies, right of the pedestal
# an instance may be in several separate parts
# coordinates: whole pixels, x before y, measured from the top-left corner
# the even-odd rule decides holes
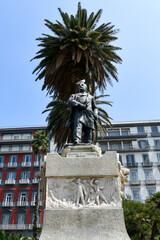
[[[160,192],[160,120],[117,122],[98,136],[102,151],[117,151],[124,167],[130,169],[130,182],[124,195],[144,202]]]

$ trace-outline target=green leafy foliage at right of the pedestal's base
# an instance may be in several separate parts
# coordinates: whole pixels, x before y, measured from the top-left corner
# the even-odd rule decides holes
[[[123,200],[127,232],[132,240],[160,240],[160,192],[145,203]]]

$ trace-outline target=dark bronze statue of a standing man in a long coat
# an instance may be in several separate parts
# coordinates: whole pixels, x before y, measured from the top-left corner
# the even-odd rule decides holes
[[[78,81],[76,85],[77,93],[72,94],[68,100],[72,110],[67,121],[67,127],[73,129],[74,144],[81,142],[92,143],[92,132],[97,119],[98,109],[96,108],[94,97],[87,93],[85,79]]]

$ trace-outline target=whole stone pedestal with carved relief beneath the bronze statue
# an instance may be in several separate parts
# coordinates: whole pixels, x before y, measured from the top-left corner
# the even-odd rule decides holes
[[[78,146],[65,152],[66,157],[47,155],[42,174],[45,210],[40,240],[129,240],[117,153],[97,157],[93,146],[91,151],[83,148],[85,154]]]

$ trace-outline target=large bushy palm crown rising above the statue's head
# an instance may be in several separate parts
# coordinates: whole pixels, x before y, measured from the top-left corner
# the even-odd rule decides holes
[[[89,17],[80,3],[75,16],[58,10],[63,24],[45,19],[52,35],[37,38],[41,49],[33,59],[41,61],[33,73],[37,74],[36,80],[44,78],[42,90],[46,89],[55,99],[67,101],[75,92],[75,82],[80,79],[86,79],[92,95],[96,86],[103,91],[107,82],[112,85],[111,78],[118,81],[115,64],[122,60],[116,51],[121,48],[110,43],[117,39],[115,35],[119,30],[110,22],[96,27],[102,9]]]

